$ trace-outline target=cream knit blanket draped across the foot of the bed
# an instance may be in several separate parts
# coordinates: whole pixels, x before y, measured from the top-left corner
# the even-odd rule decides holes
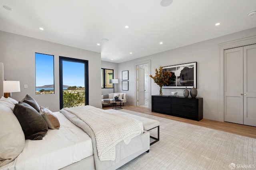
[[[92,129],[100,160],[115,160],[116,144],[122,140],[128,144],[133,137],[142,133],[136,120],[96,107],[86,105],[64,110],[80,118]]]

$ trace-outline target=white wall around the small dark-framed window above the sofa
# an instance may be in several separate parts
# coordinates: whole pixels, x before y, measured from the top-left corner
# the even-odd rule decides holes
[[[114,79],[118,79],[118,63],[112,63],[112,62],[108,62],[108,61],[101,61],[101,68],[102,69],[113,69],[114,70]],[[122,78],[118,79],[118,83],[122,83]],[[108,94],[108,93],[113,93],[114,89],[101,89],[101,94]],[[119,92],[118,91],[118,85],[115,85],[115,92]]]

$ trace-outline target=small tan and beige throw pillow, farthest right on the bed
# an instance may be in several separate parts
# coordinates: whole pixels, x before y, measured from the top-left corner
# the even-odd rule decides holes
[[[60,122],[58,118],[50,111],[49,109],[45,107],[40,107],[40,112],[39,112],[44,120],[46,121],[48,128],[51,129],[59,129],[60,128]]]

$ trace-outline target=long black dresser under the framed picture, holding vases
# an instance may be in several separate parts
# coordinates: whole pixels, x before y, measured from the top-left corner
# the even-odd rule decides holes
[[[152,112],[182,117],[194,121],[203,119],[203,98],[152,96]]]

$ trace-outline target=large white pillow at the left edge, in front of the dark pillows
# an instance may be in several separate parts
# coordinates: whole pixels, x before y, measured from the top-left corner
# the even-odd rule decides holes
[[[25,135],[12,110],[0,104],[0,167],[12,162],[25,146]]]

